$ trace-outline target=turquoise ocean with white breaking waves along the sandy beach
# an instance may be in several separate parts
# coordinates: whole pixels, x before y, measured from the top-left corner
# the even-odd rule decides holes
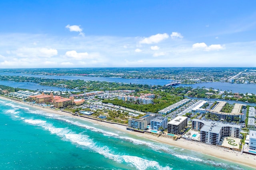
[[[1,170],[251,169],[5,100],[0,132]]]

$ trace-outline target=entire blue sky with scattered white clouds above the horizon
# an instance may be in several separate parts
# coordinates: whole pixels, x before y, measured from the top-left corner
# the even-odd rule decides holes
[[[256,1],[0,1],[0,67],[256,66]]]

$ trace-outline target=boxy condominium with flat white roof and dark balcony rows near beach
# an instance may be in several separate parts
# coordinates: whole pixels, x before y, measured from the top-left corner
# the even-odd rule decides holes
[[[177,116],[167,123],[168,133],[180,134],[188,125],[188,117]]]

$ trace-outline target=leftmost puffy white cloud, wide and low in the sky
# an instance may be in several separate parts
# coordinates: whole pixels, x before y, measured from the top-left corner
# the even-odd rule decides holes
[[[13,54],[18,57],[52,57],[58,55],[58,51],[56,49],[47,49],[47,48],[28,48],[22,47],[15,51],[12,51]]]

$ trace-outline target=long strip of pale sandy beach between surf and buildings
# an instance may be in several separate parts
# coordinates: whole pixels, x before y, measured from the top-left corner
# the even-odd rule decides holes
[[[182,138],[178,139],[177,141],[174,141],[174,140],[166,138],[166,137],[161,137],[161,136],[156,137],[156,136],[152,136],[152,135],[147,135],[145,133],[137,133],[137,132],[134,132],[134,131],[128,131],[128,130],[126,130],[126,127],[123,126],[123,125],[107,123],[107,122],[103,122],[103,121],[89,119],[89,118],[86,118],[86,117],[79,117],[79,116],[72,115],[72,114],[64,112],[64,111],[58,111],[58,110],[50,109],[50,108],[47,108],[47,107],[36,106],[34,104],[28,104],[26,102],[13,100],[13,99],[10,99],[10,98],[5,98],[4,96],[0,96],[0,99],[20,103],[20,104],[30,106],[30,107],[34,107],[36,109],[40,109],[42,111],[46,111],[46,112],[50,112],[50,113],[55,113],[55,114],[64,115],[64,116],[68,116],[68,117],[75,117],[75,118],[79,118],[79,119],[84,119],[86,121],[90,121],[90,122],[93,122],[93,123],[97,123],[99,125],[103,125],[103,126],[106,126],[106,127],[117,129],[119,131],[124,131],[125,133],[136,135],[138,137],[143,137],[143,138],[146,138],[146,139],[150,139],[150,140],[153,140],[153,141],[158,142],[158,143],[164,143],[164,144],[171,145],[171,146],[174,146],[174,147],[179,147],[179,148],[188,149],[188,150],[194,150],[194,151],[200,152],[202,154],[214,156],[216,158],[220,158],[220,159],[223,159],[223,160],[227,160],[227,161],[230,161],[230,162],[243,164],[243,165],[246,165],[246,166],[250,166],[252,168],[256,168],[256,165],[255,165],[256,156],[254,156],[254,155],[245,154],[245,153],[240,154],[240,152],[238,152],[238,151],[221,148],[221,147],[217,147],[217,146],[214,146],[214,145],[207,145],[207,144],[196,142],[196,141],[188,141],[188,140],[182,139]]]

